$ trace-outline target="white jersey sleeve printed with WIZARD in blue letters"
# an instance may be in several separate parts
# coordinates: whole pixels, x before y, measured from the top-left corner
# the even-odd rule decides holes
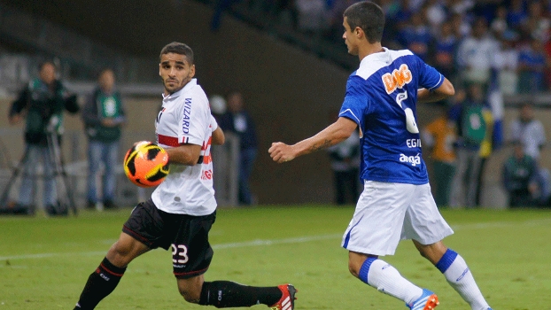
[[[178,142],[203,145],[206,140],[206,129],[211,118],[206,97],[193,96],[184,98],[180,110]]]

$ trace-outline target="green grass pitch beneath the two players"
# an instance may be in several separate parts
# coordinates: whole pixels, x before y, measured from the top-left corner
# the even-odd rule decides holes
[[[0,310],[72,309],[89,274],[120,234],[130,209],[78,217],[0,217]],[[551,309],[551,212],[443,210],[460,252],[493,309]],[[206,280],[293,283],[297,309],[406,309],[353,278],[341,236],[353,207],[328,205],[221,209],[211,231]],[[409,241],[385,257],[412,282],[437,292],[438,309],[469,309]],[[128,267],[97,309],[204,309],[178,294],[171,254],[155,250]],[[214,308],[214,307],[209,307]],[[264,309],[265,306],[253,306]]]

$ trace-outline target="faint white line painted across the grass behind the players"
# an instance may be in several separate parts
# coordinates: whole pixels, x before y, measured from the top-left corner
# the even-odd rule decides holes
[[[551,218],[539,219],[533,221],[524,221],[524,222],[514,222],[514,221],[496,221],[491,223],[474,223],[474,224],[460,224],[452,225],[454,230],[462,229],[495,229],[495,228],[507,228],[512,226],[542,226],[548,225],[551,222]],[[343,230],[344,231],[344,230]],[[320,240],[330,240],[338,239],[342,237],[342,234],[331,234],[331,235],[318,235],[318,236],[299,236],[286,239],[257,239],[252,241],[245,242],[236,242],[229,244],[213,244],[213,249],[234,249],[234,248],[243,248],[251,246],[268,246],[274,244],[305,244],[313,241]],[[80,255],[80,256],[93,256],[93,255],[103,255],[105,251],[102,252],[53,252],[53,253],[37,253],[37,254],[24,254],[24,255],[14,255],[14,256],[0,256],[0,260],[32,260],[32,259],[44,259],[56,256],[71,256],[71,255]]]

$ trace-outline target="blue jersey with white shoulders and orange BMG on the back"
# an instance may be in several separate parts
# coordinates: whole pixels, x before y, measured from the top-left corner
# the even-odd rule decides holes
[[[339,116],[361,133],[361,178],[429,182],[416,121],[417,89],[437,89],[444,76],[410,50],[387,50],[361,60],[346,83]]]

